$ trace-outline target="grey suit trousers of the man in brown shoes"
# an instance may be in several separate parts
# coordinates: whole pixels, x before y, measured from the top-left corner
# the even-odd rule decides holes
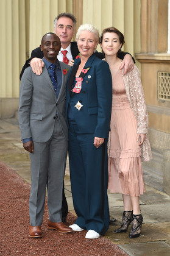
[[[62,221],[63,179],[65,175],[68,141],[63,136],[58,118],[52,136],[46,143],[34,142],[30,154],[31,189],[29,215],[31,226],[43,222],[46,186],[48,189],[49,220]]]

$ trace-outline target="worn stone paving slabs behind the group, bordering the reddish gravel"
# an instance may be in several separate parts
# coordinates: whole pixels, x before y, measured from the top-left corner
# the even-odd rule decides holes
[[[17,119],[0,119],[0,160],[16,171],[26,182],[30,183],[29,154],[24,151],[19,136]],[[150,185],[149,179],[152,179],[152,177],[147,176],[146,179],[146,193],[140,198],[141,212],[144,217],[141,236],[130,240],[128,233],[113,233],[113,230],[121,223],[122,198],[121,194],[108,193],[110,215],[114,216],[117,221],[115,224],[110,225],[104,237],[112,241],[113,244],[118,244],[129,255],[169,256],[170,196],[159,191],[159,187],[151,187],[152,180]],[[65,194],[69,212],[75,215],[71,197],[68,163],[65,176]],[[77,255],[79,256],[79,254]]]

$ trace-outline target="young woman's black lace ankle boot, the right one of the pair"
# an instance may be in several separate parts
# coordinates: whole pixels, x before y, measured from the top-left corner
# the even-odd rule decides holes
[[[143,222],[143,216],[141,214],[133,214],[132,227],[130,229],[129,238],[135,238],[140,236],[141,227]]]

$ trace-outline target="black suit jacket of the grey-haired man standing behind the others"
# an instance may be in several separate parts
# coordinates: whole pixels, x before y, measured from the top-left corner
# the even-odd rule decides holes
[[[74,42],[71,42],[71,54],[73,56],[73,59],[76,59],[76,56],[79,54],[79,49],[77,48],[77,42],[74,41]],[[101,53],[101,52],[95,52],[96,56],[99,58],[99,59],[104,59],[104,55]],[[119,59],[124,59],[124,56],[126,54],[129,54],[129,52],[119,52]],[[21,80],[21,77],[23,76],[23,73],[24,73],[24,70],[29,66],[29,62],[30,60],[32,60],[33,58],[40,58],[40,59],[43,59],[44,57],[44,54],[43,52],[41,51],[40,49],[40,46],[36,49],[34,49],[32,52],[31,52],[31,55],[30,55],[30,58],[28,60],[26,60],[26,63],[24,64],[22,70],[21,70],[21,73],[20,73],[20,76],[19,76],[19,79]],[[133,59],[133,57],[132,57]],[[133,59],[133,62],[135,63],[135,60]]]

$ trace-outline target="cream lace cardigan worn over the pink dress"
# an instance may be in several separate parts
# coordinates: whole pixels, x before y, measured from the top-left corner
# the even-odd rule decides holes
[[[141,160],[146,162],[152,158],[151,145],[147,135],[148,113],[140,79],[140,71],[136,65],[129,73],[125,75],[122,74],[122,79],[127,99],[137,121],[137,133],[146,133],[146,139],[141,145]]]

